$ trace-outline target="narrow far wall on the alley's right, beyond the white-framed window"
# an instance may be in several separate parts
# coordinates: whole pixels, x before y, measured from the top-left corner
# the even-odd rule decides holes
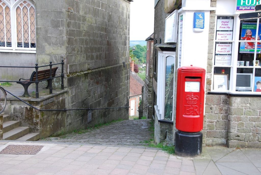
[[[147,55],[146,55],[146,78],[144,84],[143,97],[143,115],[148,119],[153,114],[153,91],[152,91],[152,76],[153,76],[153,40],[147,41]]]

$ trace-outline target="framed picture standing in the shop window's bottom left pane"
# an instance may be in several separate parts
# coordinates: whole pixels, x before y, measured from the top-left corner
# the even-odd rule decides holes
[[[213,90],[228,90],[228,74],[214,74]]]

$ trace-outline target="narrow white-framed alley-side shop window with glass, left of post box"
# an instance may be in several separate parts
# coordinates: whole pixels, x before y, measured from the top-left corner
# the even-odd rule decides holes
[[[173,120],[175,52],[158,52],[157,106],[159,119]]]

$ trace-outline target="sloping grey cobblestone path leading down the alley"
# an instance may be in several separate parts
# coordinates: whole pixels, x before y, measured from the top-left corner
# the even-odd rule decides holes
[[[58,140],[52,142],[66,143],[88,143],[99,145],[126,145],[126,146],[145,146],[152,138],[153,131],[149,130],[150,119],[146,120],[123,120],[111,123],[108,126],[101,126],[97,129],[88,130],[86,133],[78,134],[75,132],[63,135]]]

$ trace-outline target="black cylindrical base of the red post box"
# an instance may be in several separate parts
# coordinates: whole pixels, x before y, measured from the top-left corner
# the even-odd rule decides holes
[[[202,133],[175,132],[175,154],[182,157],[196,157],[202,153]]]

